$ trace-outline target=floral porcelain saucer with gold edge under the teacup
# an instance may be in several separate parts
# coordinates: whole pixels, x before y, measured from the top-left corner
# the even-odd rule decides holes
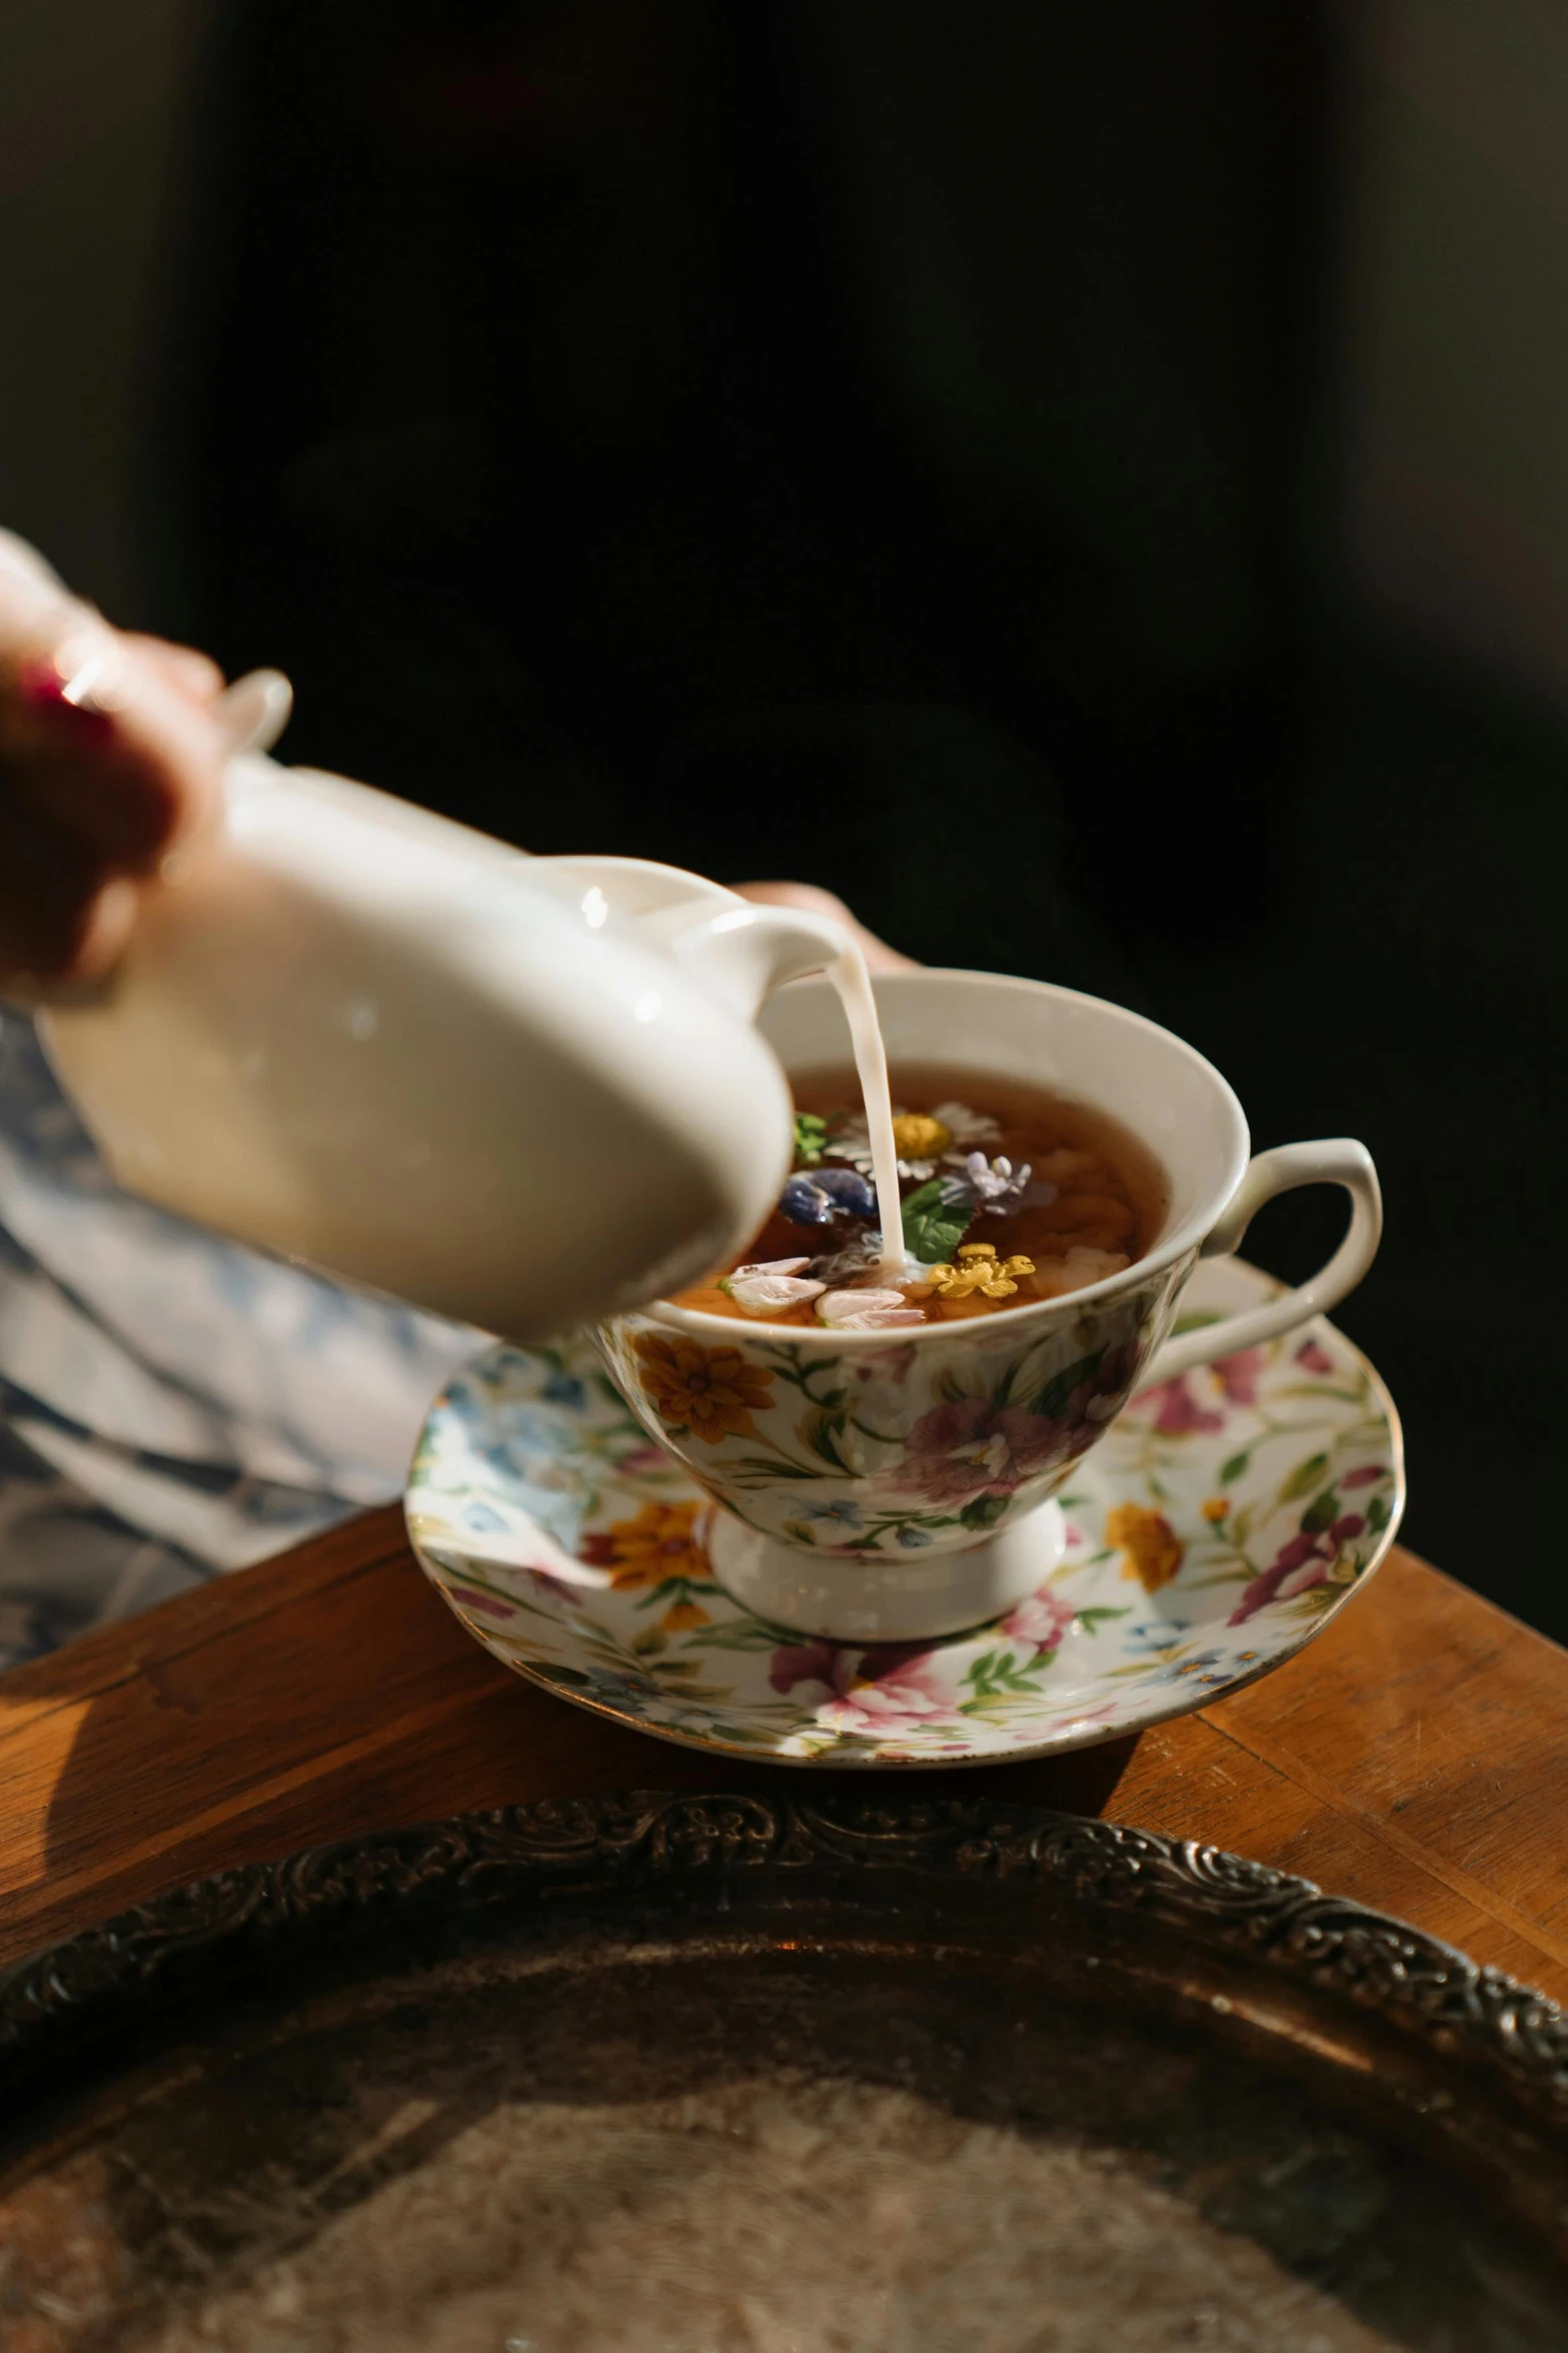
[[[1178,1329],[1279,1285],[1199,1264]],[[1293,1657],[1403,1511],[1399,1417],[1328,1322],[1145,1391],[1070,1475],[1067,1553],[940,1642],[780,1633],[715,1584],[710,1506],[588,1341],[491,1348],[437,1398],[414,1551],[520,1675],[658,1739],[778,1765],[983,1765],[1121,1739]]]

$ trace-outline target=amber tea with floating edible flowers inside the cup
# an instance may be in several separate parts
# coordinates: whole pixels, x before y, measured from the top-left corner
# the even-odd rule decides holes
[[[778,1207],[733,1266],[675,1306],[835,1329],[997,1315],[1121,1273],[1164,1221],[1164,1169],[1107,1113],[1018,1080],[903,1064],[898,1264],[853,1071],[792,1087],[795,1167]]]

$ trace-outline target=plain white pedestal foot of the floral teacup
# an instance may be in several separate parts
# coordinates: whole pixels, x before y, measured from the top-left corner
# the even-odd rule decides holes
[[[1060,1504],[1041,1504],[964,1553],[820,1553],[759,1537],[715,1508],[712,1574],[745,1609],[827,1642],[933,1642],[1039,1593],[1067,1548]]]

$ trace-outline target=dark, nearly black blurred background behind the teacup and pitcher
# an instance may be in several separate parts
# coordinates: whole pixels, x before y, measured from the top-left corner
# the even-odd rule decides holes
[[[0,520],[287,668],[284,758],[825,882],[1363,1136],[1408,1541],[1568,1635],[1526,0],[14,0],[7,66]]]

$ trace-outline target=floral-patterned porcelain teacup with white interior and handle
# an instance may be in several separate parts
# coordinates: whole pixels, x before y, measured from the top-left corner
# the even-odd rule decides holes
[[[1117,1005],[983,972],[900,972],[877,979],[877,1012],[893,1064],[1032,1080],[1121,1120],[1168,1179],[1152,1249],[1063,1299],[896,1337],[661,1301],[597,1341],[630,1407],[719,1506],[712,1567],[748,1609],[830,1640],[907,1642],[1037,1593],[1063,1541],[1051,1497],[1133,1391],[1335,1306],[1373,1261],[1382,1209],[1361,1144],[1248,1160],[1220,1073]],[[780,991],[764,1031],[785,1071],[844,1059],[825,981]],[[1237,1249],[1262,1202],[1302,1184],[1352,1195],[1321,1273],[1166,1339],[1197,1259]]]

